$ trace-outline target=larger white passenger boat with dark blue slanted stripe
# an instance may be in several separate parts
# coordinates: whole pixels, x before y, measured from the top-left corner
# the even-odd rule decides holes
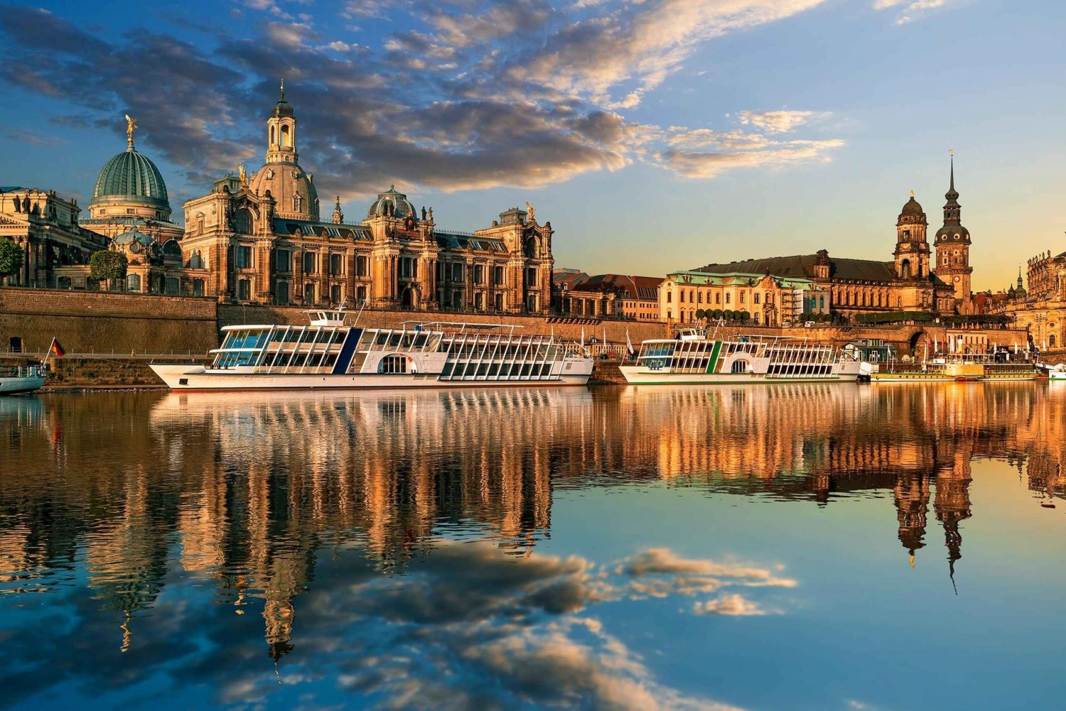
[[[226,326],[209,366],[151,369],[172,390],[585,385],[593,372],[584,349],[520,335],[520,326],[361,328],[345,325],[343,310],[307,313],[307,326]]]

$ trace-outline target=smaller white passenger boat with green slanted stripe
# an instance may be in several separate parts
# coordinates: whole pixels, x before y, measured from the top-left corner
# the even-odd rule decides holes
[[[831,345],[784,336],[720,340],[701,329],[643,341],[636,363],[619,369],[632,385],[855,382],[871,371]]]

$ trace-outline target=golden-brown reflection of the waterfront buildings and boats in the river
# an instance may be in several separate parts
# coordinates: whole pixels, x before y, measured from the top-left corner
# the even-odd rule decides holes
[[[954,576],[971,459],[1015,464],[1043,505],[1066,496],[1064,404],[1031,384],[0,400],[0,589],[47,591],[83,556],[126,649],[177,563],[238,613],[260,599],[277,660],[317,558],[354,547],[402,573],[449,538],[528,556],[553,487],[659,480],[877,495],[911,564],[942,529]]]

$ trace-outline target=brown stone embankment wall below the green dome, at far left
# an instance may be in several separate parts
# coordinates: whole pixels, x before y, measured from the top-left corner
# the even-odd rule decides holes
[[[212,298],[0,289],[0,352],[17,339],[41,354],[60,340],[77,353],[206,353],[217,345]]]

